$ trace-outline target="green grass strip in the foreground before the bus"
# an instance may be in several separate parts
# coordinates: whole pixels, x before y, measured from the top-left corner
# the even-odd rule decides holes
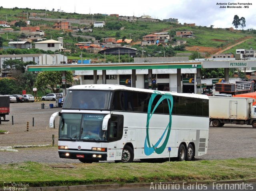
[[[166,181],[220,181],[256,177],[256,158],[163,163],[73,163],[54,168],[47,163],[0,165],[0,181],[25,181],[31,186],[138,183]]]

